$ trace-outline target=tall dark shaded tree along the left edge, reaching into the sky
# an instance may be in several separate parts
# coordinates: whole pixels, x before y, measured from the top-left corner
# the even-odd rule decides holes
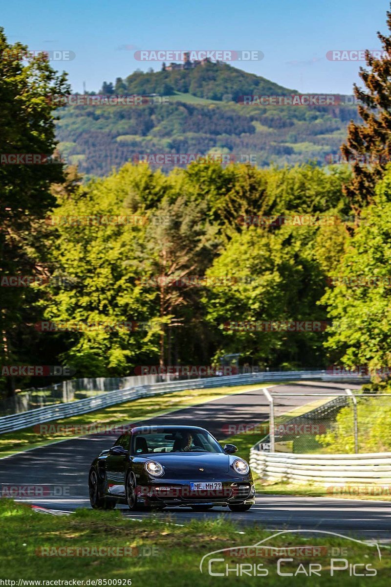
[[[52,156],[56,148],[53,110],[57,107],[53,96],[69,93],[66,75],[57,75],[45,55],[31,57],[21,43],[9,44],[1,28],[0,55],[0,157],[10,153]],[[62,181],[63,166],[58,161],[1,163],[0,279],[13,275],[42,276],[47,238],[44,218],[55,204],[50,184]],[[29,326],[36,317],[36,291],[0,287],[0,295],[0,363],[28,363],[34,357],[37,342]],[[17,383],[6,380],[10,394]]]

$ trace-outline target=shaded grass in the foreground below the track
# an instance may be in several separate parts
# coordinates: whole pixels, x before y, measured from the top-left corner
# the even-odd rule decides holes
[[[209,518],[208,515],[193,519],[184,527],[166,521],[144,518],[134,521],[123,517],[119,510],[111,512],[77,510],[69,516],[51,516],[33,512],[29,507],[12,500],[0,500],[0,523],[4,540],[0,551],[0,578],[2,579],[131,579],[132,586],[159,585],[161,587],[209,587],[215,585],[289,586],[311,585],[318,587],[349,585],[389,585],[391,558],[389,550],[381,548],[381,561],[374,547],[352,542],[349,539],[320,534],[318,537],[285,533],[269,539],[267,545],[288,548],[294,546],[323,546],[322,556],[271,555],[268,551],[260,556],[234,556],[232,552],[216,555],[224,558],[223,563],[214,563],[212,571],[225,572],[236,565],[262,564],[268,576],[210,576],[208,565],[199,565],[203,556],[210,552],[240,548],[257,544],[274,534],[259,527],[241,529],[234,524],[234,514],[226,517]],[[344,532],[341,532],[344,534]],[[95,549],[94,556],[53,556],[55,548]],[[132,556],[102,556],[103,548],[127,548]],[[45,549],[42,551],[42,548]],[[334,548],[334,554],[330,549]],[[99,550],[100,549],[100,550]],[[349,563],[365,563],[376,569],[376,577],[351,577],[349,568],[337,571],[331,576],[331,558],[339,558],[338,552]],[[42,552],[51,556],[42,556]],[[79,551],[80,552],[80,551]],[[41,554],[41,556],[40,556]],[[242,551],[242,554],[245,554]],[[321,565],[321,576],[306,578],[301,572],[297,576],[278,576],[277,558],[293,558],[284,562],[283,572],[295,573],[301,564],[307,569],[310,563]],[[207,559],[208,560],[208,559]],[[341,563],[338,563],[341,565]],[[243,568],[243,567],[242,567]],[[247,569],[249,567],[247,566]],[[362,572],[362,567],[359,568]],[[105,585],[104,582],[100,583]],[[106,583],[107,584],[107,583]]]

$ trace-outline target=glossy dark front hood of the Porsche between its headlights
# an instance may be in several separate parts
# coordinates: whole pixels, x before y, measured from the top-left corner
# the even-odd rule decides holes
[[[163,465],[166,474],[178,476],[223,474],[228,473],[230,467],[230,457],[224,453],[157,453],[146,458]],[[200,471],[201,468],[203,471]]]

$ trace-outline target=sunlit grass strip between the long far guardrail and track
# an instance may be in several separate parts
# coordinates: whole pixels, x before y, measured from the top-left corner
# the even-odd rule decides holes
[[[106,424],[107,426],[123,426],[142,419],[161,416],[184,407],[196,406],[200,403],[210,402],[219,397],[233,393],[240,393],[261,387],[271,387],[271,383],[259,383],[257,385],[243,385],[234,387],[213,387],[212,389],[188,389],[181,392],[167,393],[162,396],[145,397],[133,402],[115,404],[105,409],[91,411],[80,416],[56,420],[49,424],[62,424],[65,426],[93,426],[94,424]],[[83,432],[84,434],[84,432]],[[65,440],[80,436],[78,434],[40,434],[35,427],[16,430],[0,435],[0,458],[28,448],[45,446],[55,441]]]

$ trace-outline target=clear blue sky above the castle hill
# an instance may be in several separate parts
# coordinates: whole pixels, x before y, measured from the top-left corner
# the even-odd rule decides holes
[[[138,50],[235,50],[262,52],[263,59],[229,63],[281,86],[351,94],[365,63],[326,55],[380,49],[376,32],[387,33],[387,9],[389,0],[13,0],[2,5],[0,26],[11,43],[63,57],[52,64],[69,73],[73,92],[83,82],[97,92],[137,68],[161,69],[137,60]]]

